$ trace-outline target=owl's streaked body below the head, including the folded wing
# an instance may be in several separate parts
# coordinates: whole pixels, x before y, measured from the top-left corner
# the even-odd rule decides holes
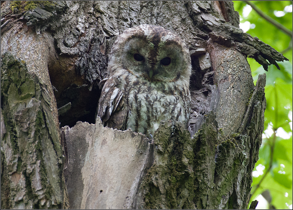
[[[152,138],[161,120],[186,122],[190,113],[188,87],[176,82],[150,82],[121,70],[100,81],[103,86],[97,115],[104,126],[131,128]]]

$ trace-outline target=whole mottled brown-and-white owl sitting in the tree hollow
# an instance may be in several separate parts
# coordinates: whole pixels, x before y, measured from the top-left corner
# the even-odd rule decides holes
[[[161,26],[140,25],[113,44],[97,108],[104,126],[153,138],[161,120],[188,123],[191,59],[182,39]]]

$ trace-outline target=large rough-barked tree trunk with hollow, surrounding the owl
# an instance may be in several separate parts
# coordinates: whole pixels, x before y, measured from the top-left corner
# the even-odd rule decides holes
[[[193,66],[188,130],[162,121],[151,140],[94,118],[117,35],[145,23]],[[1,208],[247,208],[266,100],[246,57],[287,59],[231,1],[6,1],[1,35]]]

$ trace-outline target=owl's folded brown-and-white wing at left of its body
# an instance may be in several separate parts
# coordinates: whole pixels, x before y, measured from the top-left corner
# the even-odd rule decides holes
[[[101,118],[104,126],[123,131],[128,117],[128,108],[123,92],[117,88],[113,77],[103,79],[101,82],[105,84],[99,99],[97,116]]]

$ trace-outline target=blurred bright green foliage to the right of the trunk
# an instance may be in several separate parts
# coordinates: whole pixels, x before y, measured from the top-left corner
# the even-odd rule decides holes
[[[265,196],[265,193],[263,196],[268,200],[270,208],[289,209],[291,207],[292,209],[292,37],[262,18],[253,9],[246,16],[247,13],[245,9],[243,12],[243,8],[246,8],[247,4],[244,1],[233,2],[234,9],[240,15],[240,23],[248,21],[251,24],[247,33],[254,37],[257,36],[261,41],[283,53],[289,59],[289,61],[278,62],[281,70],[270,65],[268,72],[265,72],[255,60],[247,58],[254,82],[259,74],[266,73],[267,75],[265,87],[267,108],[265,110],[264,132],[266,135],[263,134],[259,160],[255,164],[255,167],[261,164],[265,166],[265,169],[262,175],[253,177],[251,201],[268,190],[271,201]],[[292,31],[292,9],[291,12],[288,7],[285,9],[289,5],[292,8],[292,1],[250,2]],[[278,15],[280,13],[283,16]],[[287,137],[286,133],[282,135],[282,129],[287,132]]]

